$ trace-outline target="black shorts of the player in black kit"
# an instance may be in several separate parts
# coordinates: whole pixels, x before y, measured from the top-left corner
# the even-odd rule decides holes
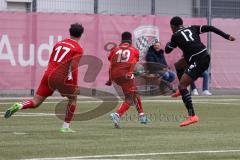
[[[189,64],[188,68],[185,70],[185,73],[189,75],[193,80],[196,80],[198,77],[201,77],[203,72],[208,69],[210,64],[210,55],[204,53],[199,57],[195,62]]]

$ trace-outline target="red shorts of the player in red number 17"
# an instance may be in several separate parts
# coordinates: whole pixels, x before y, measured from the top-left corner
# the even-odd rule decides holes
[[[55,90],[58,90],[62,96],[72,96],[77,93],[77,86],[73,85],[71,81],[65,82],[59,77],[49,76],[44,74],[41,83],[36,92],[37,95],[42,97],[48,97],[53,94]]]

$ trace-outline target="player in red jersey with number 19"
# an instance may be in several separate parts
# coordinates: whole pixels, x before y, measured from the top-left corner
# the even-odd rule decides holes
[[[139,51],[132,46],[132,35],[130,32],[122,33],[121,44],[114,47],[108,57],[110,61],[109,76],[110,81],[119,85],[124,93],[125,100],[119,106],[116,113],[112,113],[111,119],[116,128],[120,128],[120,117],[134,104],[136,105],[140,122],[146,124],[148,119],[144,115],[141,98],[137,94],[137,88],[134,84],[134,66],[139,61]]]

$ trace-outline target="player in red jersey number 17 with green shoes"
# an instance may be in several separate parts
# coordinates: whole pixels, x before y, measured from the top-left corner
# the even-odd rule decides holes
[[[84,28],[81,24],[72,24],[69,28],[70,38],[55,44],[47,70],[45,71],[36,95],[31,100],[13,104],[5,113],[9,118],[18,110],[37,108],[55,90],[68,98],[65,120],[61,132],[73,132],[70,122],[73,118],[77,103],[77,77],[78,64],[83,55],[83,49],[79,45]]]

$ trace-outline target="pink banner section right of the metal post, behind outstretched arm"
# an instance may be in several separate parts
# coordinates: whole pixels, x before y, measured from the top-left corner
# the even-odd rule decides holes
[[[212,34],[212,86],[240,88],[240,19],[213,19],[212,24],[237,38],[230,42]]]

